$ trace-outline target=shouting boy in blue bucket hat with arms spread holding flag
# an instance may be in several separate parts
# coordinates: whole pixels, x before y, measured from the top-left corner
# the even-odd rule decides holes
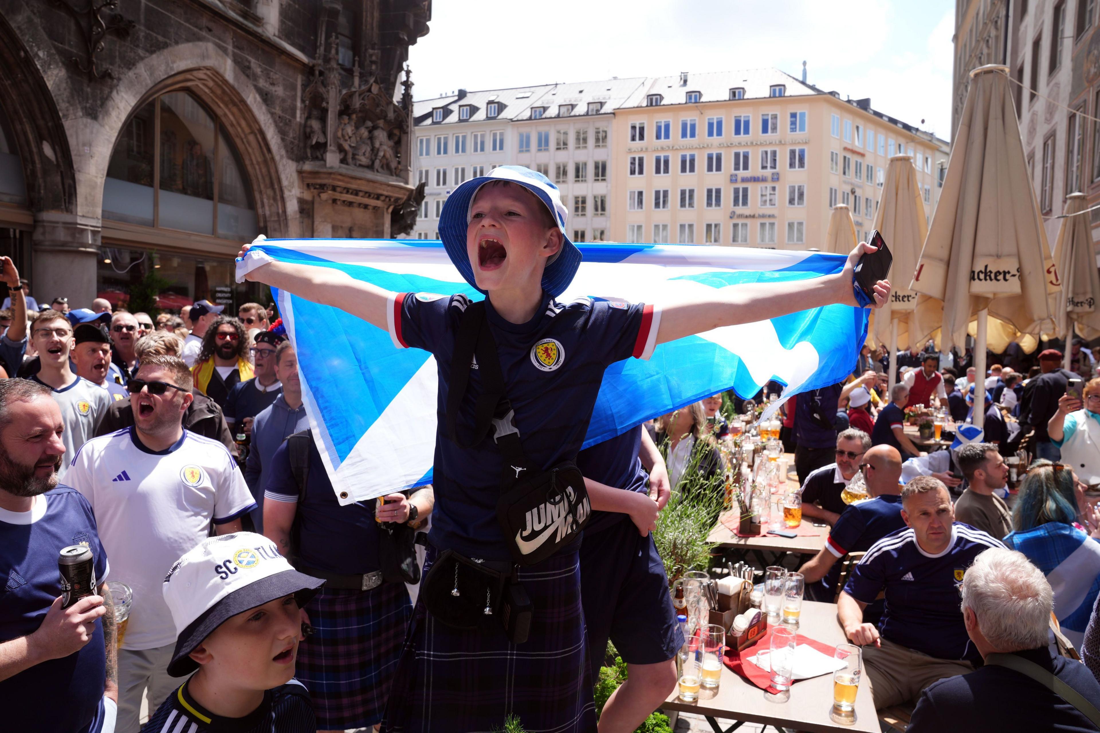
[[[495,438],[510,440],[508,436],[517,434],[536,471],[572,461],[584,440],[607,366],[631,357],[648,359],[658,343],[719,326],[833,303],[857,305],[853,269],[864,252],[872,251],[860,244],[837,275],[714,288],[713,295],[663,309],[590,297],[559,303],[556,298],[581,263],[580,251],[565,234],[566,215],[558,187],[546,176],[508,165],[463,183],[443,207],[440,238],[466,282],[485,295],[484,306],[471,311],[484,313],[513,412],[497,420],[507,423],[505,429],[498,426],[495,437],[488,434],[477,439],[475,435],[472,446],[460,445],[469,442],[468,435],[437,433],[432,482],[437,504],[425,566],[428,575],[391,689],[383,731],[490,730],[503,726],[508,713],[518,715],[528,730],[594,730],[578,541],[563,543],[559,535],[553,555],[513,576],[534,608],[524,643],[510,643],[499,626],[452,628],[448,626],[452,620],[428,613],[425,605],[425,590],[432,580],[429,568],[448,550],[468,560],[476,558],[482,567],[498,564],[508,571],[520,536],[506,535],[503,522],[498,523],[502,475],[507,474],[503,442]],[[476,296],[392,293],[338,270],[275,262],[263,252],[249,256],[243,269],[246,280],[341,308],[387,330],[398,347],[431,352],[439,366],[441,415],[452,371],[466,381],[462,368],[471,364],[471,389],[460,403],[458,419],[471,422],[482,396],[479,393],[484,392],[483,379],[492,375],[480,369],[481,357],[479,366],[469,357],[459,360],[458,370],[452,357],[468,307],[480,303]],[[877,304],[884,303],[889,293],[890,284],[880,282]],[[862,296],[862,305],[868,304]],[[517,468],[516,477],[527,470],[513,468]],[[625,494],[614,489],[591,491],[591,508],[623,511]],[[541,524],[535,528],[541,529]],[[524,546],[544,544],[551,539],[549,532],[528,535]],[[454,578],[453,595],[466,598],[461,595],[457,571]],[[486,616],[499,615],[499,608],[494,609],[497,601],[497,597],[485,600]]]

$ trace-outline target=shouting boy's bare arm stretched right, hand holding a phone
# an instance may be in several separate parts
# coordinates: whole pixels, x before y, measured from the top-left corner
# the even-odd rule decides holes
[[[657,342],[674,341],[721,326],[751,324],[834,303],[856,306],[853,271],[860,255],[875,250],[870,244],[861,242],[848,255],[844,271],[836,275],[788,283],[751,283],[714,288],[696,299],[662,305]],[[875,307],[882,306],[888,297],[890,282],[880,280],[875,286]]]

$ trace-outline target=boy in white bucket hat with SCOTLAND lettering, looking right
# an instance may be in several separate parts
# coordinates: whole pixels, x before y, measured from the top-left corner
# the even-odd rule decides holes
[[[163,587],[177,632],[168,674],[195,674],[144,730],[315,733],[294,663],[304,638],[301,606],[323,582],[251,532],[210,537],[179,558]]]

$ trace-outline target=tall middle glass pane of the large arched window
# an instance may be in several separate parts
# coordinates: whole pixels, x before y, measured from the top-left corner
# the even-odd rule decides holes
[[[213,118],[186,91],[161,97],[160,226],[213,233]]]

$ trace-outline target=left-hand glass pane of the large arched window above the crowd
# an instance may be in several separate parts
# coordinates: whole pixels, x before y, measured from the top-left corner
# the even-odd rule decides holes
[[[114,143],[103,182],[103,218],[153,226],[154,102],[134,112]]]

